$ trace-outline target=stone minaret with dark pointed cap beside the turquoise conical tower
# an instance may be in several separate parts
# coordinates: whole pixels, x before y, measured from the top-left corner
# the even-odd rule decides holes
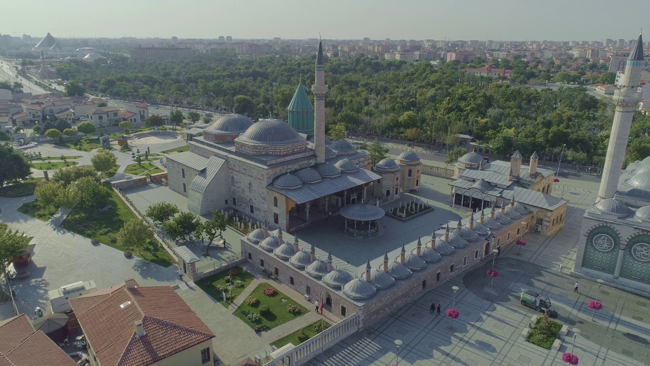
[[[314,145],[316,163],[325,162],[325,93],[328,87],[325,84],[325,58],[323,45],[318,41],[318,54],[316,55],[316,83],[311,85],[314,93]]]

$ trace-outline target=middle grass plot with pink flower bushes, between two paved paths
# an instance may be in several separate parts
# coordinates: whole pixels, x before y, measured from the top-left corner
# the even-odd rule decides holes
[[[242,322],[248,324],[250,328],[255,329],[256,327],[260,327],[263,331],[267,331],[270,329],[275,328],[276,326],[279,326],[281,324],[286,324],[287,322],[291,322],[291,320],[294,320],[295,318],[298,318],[302,315],[305,315],[307,313],[307,309],[305,309],[302,305],[300,305],[297,302],[294,302],[289,298],[289,296],[286,296],[282,292],[279,292],[276,289],[276,294],[272,296],[267,296],[262,292],[263,289],[266,287],[273,287],[272,285],[268,283],[260,283],[255,287],[255,290],[251,292],[250,296],[253,298],[257,298],[259,302],[253,306],[250,306],[244,302],[242,302],[241,305],[235,310],[233,315],[235,317],[240,318]],[[285,301],[282,301],[285,300]],[[259,308],[262,305],[266,305],[269,307],[269,310],[263,313],[260,313]],[[287,305],[296,305],[300,311],[295,314],[289,313],[287,311]],[[257,314],[260,316],[259,320],[252,322],[248,320],[248,314]]]

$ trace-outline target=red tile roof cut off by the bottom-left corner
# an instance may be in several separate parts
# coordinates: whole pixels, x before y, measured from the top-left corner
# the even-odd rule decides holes
[[[34,331],[25,314],[0,322],[0,366],[75,366],[42,331]]]

